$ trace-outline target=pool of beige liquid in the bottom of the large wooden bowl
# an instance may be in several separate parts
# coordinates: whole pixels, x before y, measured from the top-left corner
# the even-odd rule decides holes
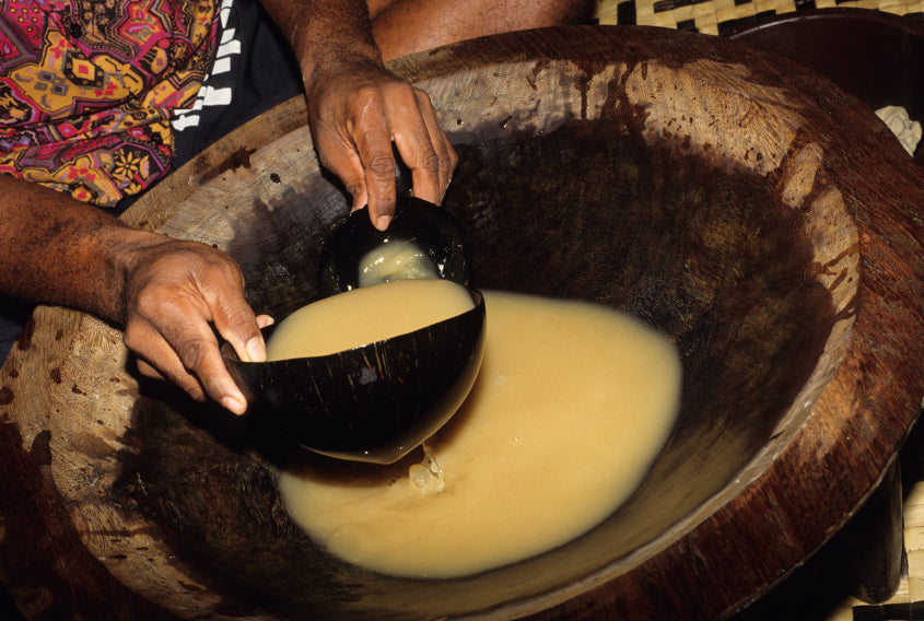
[[[596,305],[484,296],[481,372],[425,455],[281,473],[291,517],[332,554],[431,578],[540,554],[609,516],[667,440],[681,376],[667,338]]]

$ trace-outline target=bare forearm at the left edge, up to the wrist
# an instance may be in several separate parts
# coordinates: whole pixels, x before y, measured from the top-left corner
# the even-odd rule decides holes
[[[100,209],[0,174],[0,290],[125,320],[132,250],[161,236]]]

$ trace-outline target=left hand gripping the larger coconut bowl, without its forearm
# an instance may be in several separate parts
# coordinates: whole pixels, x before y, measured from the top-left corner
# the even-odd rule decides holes
[[[260,328],[244,300],[234,260],[211,246],[167,239],[138,250],[126,290],[125,344],[142,375],[166,378],[197,400],[208,395],[232,412],[247,408],[227,372],[210,326],[246,362],[266,360]]]

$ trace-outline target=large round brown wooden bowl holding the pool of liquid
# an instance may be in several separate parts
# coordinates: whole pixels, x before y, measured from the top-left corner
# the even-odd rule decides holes
[[[627,308],[676,339],[682,411],[641,489],[536,559],[373,574],[292,525],[259,430],[139,385],[117,330],[42,308],[0,392],[0,570],[28,616],[716,618],[896,459],[924,396],[924,176],[859,102],[658,28],[512,34],[393,68],[461,155],[445,206],[472,285]],[[348,209],[303,118],[267,115],[127,218],[226,249],[257,310],[295,308]]]

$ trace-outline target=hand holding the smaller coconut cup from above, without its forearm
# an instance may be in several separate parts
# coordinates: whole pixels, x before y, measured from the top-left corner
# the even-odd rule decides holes
[[[411,171],[414,196],[442,202],[458,155],[426,93],[373,62],[341,61],[307,96],[320,164],[343,181],[354,210],[369,204],[377,229],[395,213],[393,141]]]

